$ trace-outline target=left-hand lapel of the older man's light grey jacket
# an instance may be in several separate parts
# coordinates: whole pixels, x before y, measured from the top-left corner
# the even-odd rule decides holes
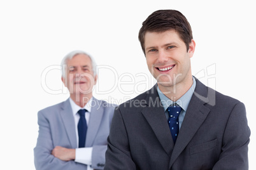
[[[76,129],[75,129],[75,120],[72,114],[72,108],[69,103],[69,99],[64,101],[61,110],[60,117],[62,118],[66,133],[68,134],[69,142],[71,143],[72,148],[76,148]]]

